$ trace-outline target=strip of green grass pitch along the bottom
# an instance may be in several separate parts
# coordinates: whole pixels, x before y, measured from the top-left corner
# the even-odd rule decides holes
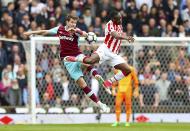
[[[130,127],[111,124],[0,125],[0,131],[190,131],[190,123],[135,123]]]

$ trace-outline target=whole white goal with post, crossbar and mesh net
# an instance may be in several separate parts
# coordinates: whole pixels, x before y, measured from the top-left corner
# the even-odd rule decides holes
[[[96,44],[88,45],[84,39],[80,39],[80,49],[84,54],[90,55],[103,44],[103,40],[98,38]],[[60,60],[58,38],[32,37],[29,42],[14,41],[13,44],[7,40],[0,42],[7,51],[12,49],[12,45],[23,48],[20,51],[25,52],[28,73],[27,87],[11,88],[8,94],[1,90],[1,107],[7,110],[5,113],[19,107],[22,113],[31,113],[32,120],[35,121],[36,113],[99,112],[70,78]],[[136,38],[133,44],[123,42],[119,54],[126,56],[128,64],[137,71],[140,96],[132,99],[133,113],[190,112],[189,38]],[[13,64],[13,69],[14,66],[16,64]],[[113,68],[107,63],[94,66],[104,79],[114,74]],[[5,72],[5,68],[7,69],[2,68],[1,74]],[[114,113],[115,96],[107,94],[89,72],[84,72],[84,78],[99,99],[110,107],[110,113]],[[12,104],[6,105],[3,103],[4,99]],[[16,103],[15,99],[18,100]],[[122,112],[125,112],[124,104]]]

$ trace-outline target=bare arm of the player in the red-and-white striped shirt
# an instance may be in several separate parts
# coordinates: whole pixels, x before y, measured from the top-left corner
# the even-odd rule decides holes
[[[134,37],[133,36],[123,36],[117,33],[117,31],[112,31],[111,36],[113,36],[116,39],[120,40],[127,40],[129,43],[134,42]]]

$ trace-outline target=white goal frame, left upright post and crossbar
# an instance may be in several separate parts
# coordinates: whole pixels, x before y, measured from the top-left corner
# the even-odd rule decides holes
[[[97,45],[102,44],[104,38],[98,38]],[[31,37],[31,116],[32,123],[36,123],[36,101],[35,101],[35,90],[36,90],[36,46],[38,43],[45,44],[59,44],[58,37]],[[86,43],[84,38],[80,39],[80,43]],[[133,65],[136,66],[136,53],[143,46],[167,46],[167,47],[186,47],[190,51],[190,38],[184,37],[135,37],[135,42],[133,44],[128,44],[126,41],[122,43],[122,46],[131,46],[133,47]],[[189,52],[190,53],[190,52]]]

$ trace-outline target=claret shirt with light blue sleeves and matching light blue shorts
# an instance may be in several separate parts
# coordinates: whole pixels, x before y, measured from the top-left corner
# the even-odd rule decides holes
[[[73,35],[71,35],[68,31],[65,30],[65,26],[62,25],[52,28],[48,30],[48,32],[51,35],[57,35],[59,37],[61,58],[64,58],[65,56],[77,56],[82,53],[78,46],[78,39],[81,34],[74,33]],[[67,71],[69,72],[70,76],[75,81],[77,81],[81,76],[83,76],[80,62],[64,62],[64,65]]]

